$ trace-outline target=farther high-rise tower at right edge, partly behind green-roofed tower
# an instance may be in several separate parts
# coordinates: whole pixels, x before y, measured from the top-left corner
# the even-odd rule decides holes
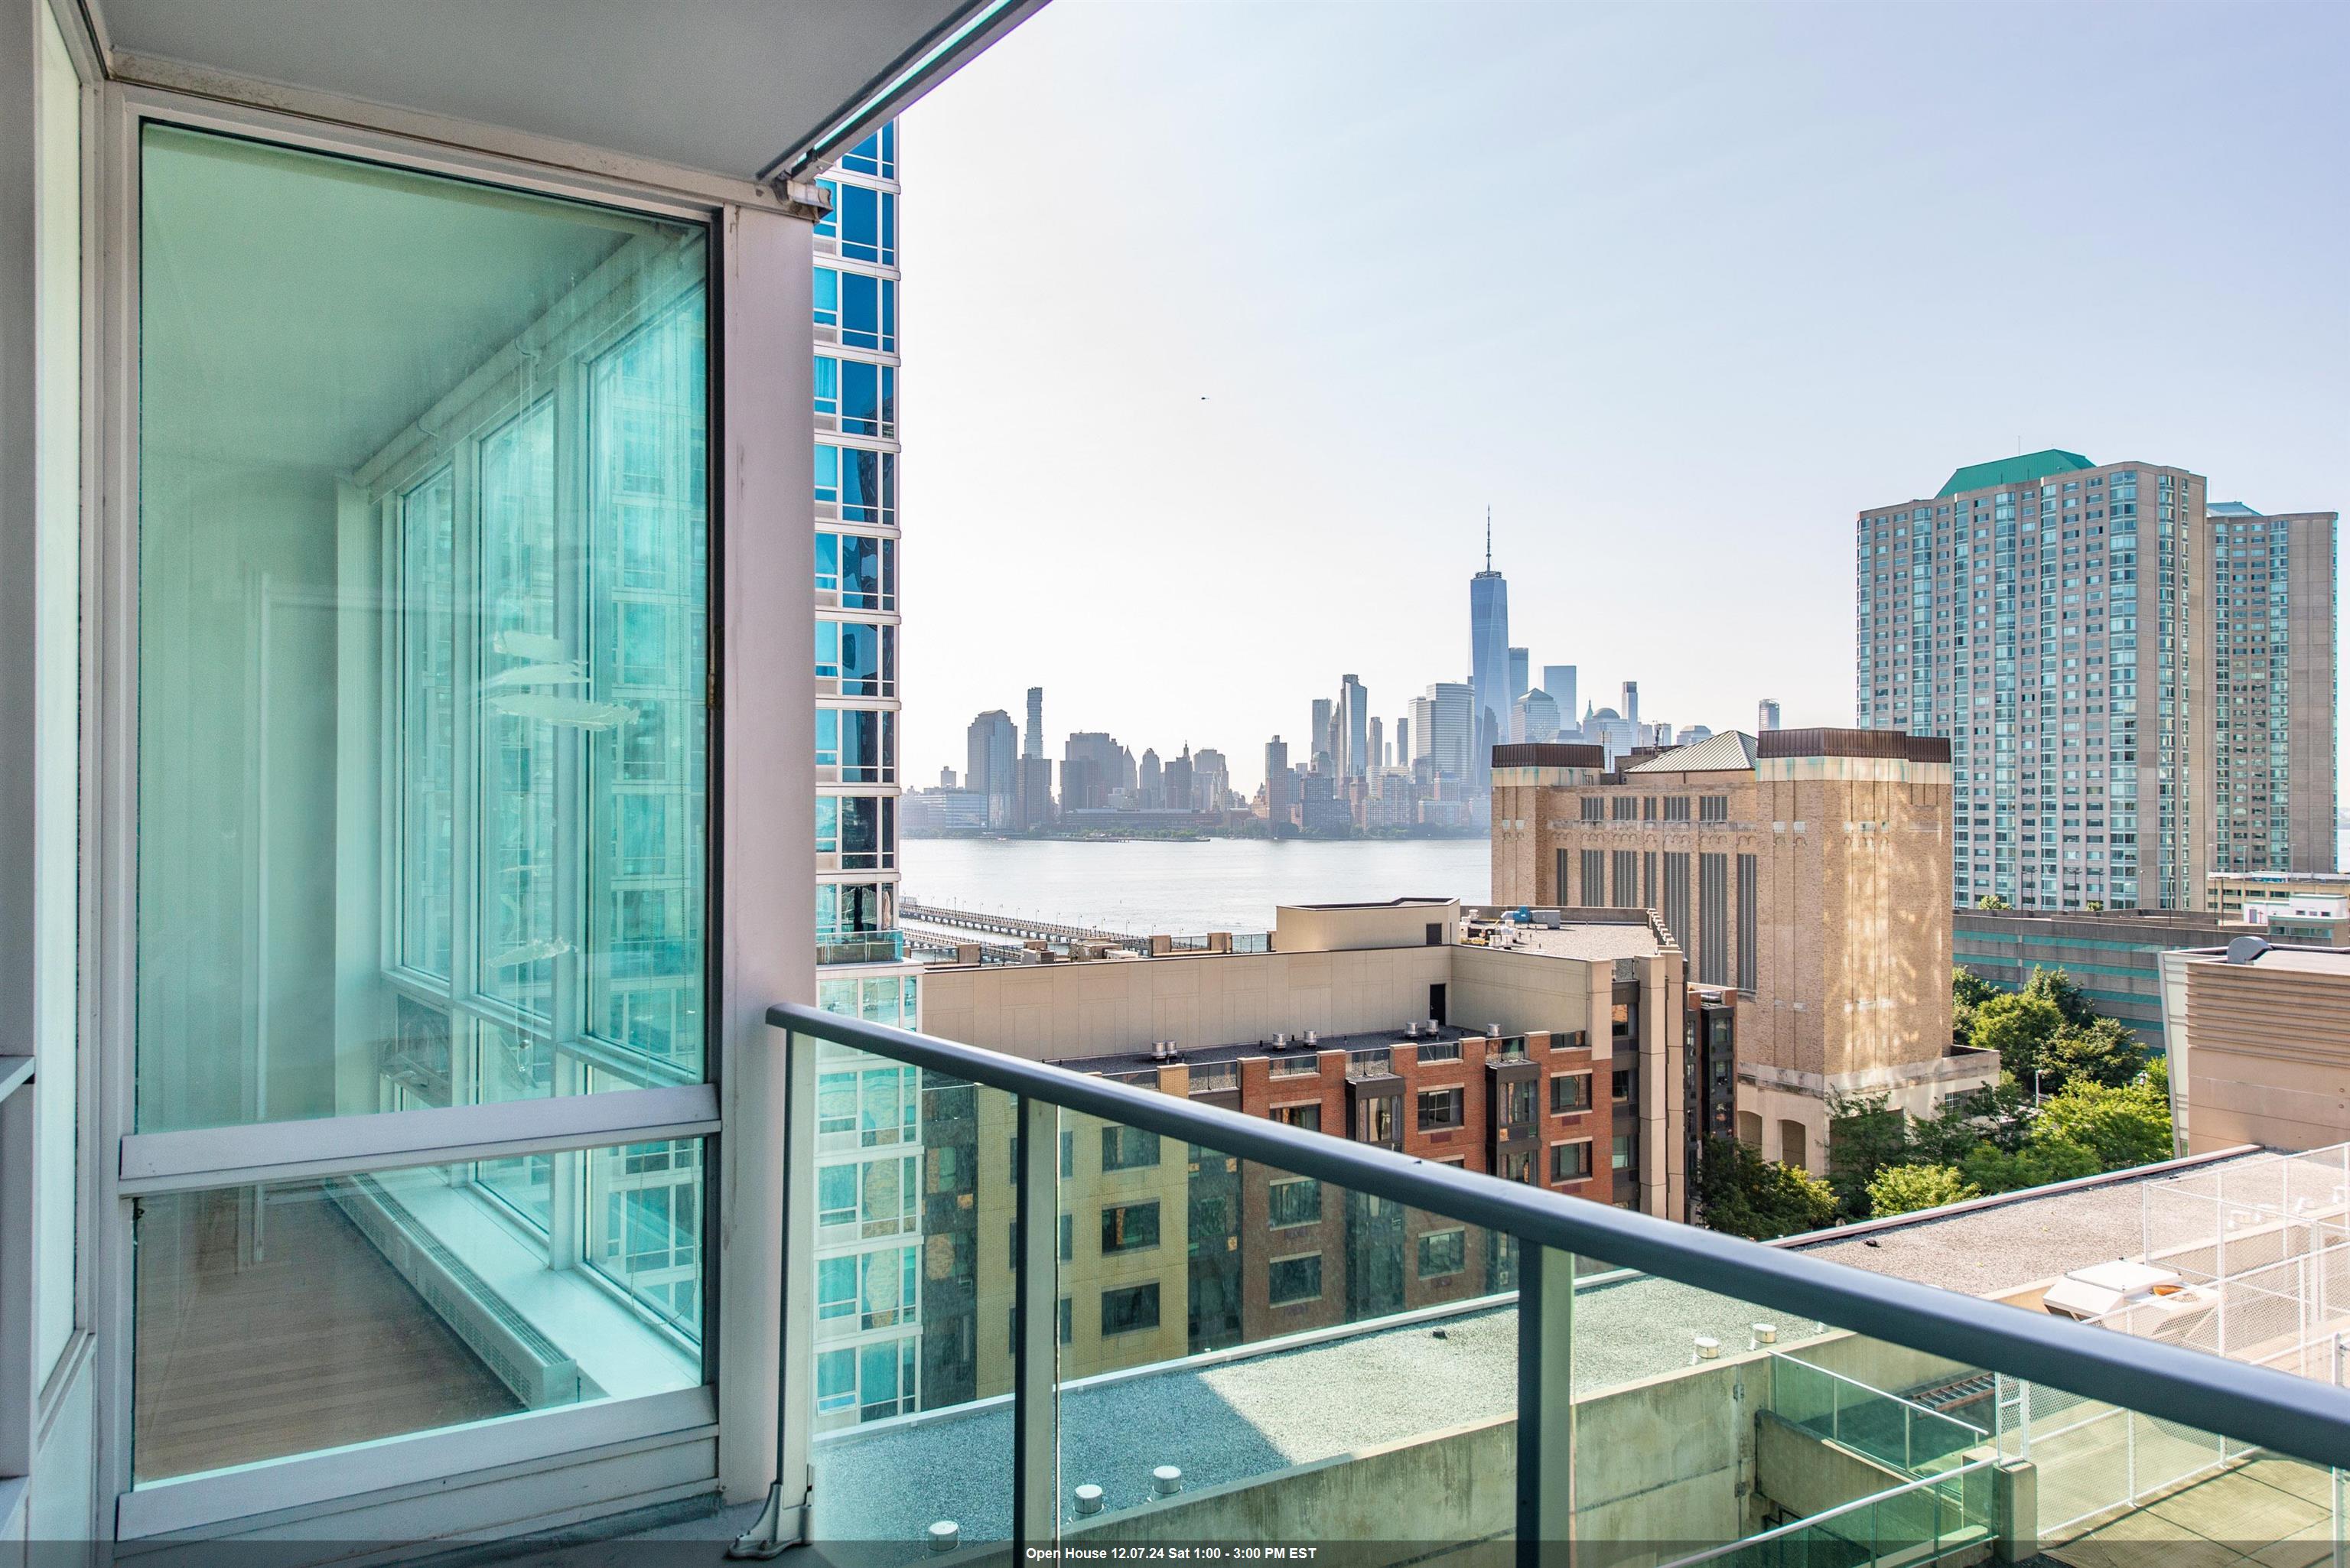
[[[2214,872],[2336,870],[2336,512],[2211,524]]]

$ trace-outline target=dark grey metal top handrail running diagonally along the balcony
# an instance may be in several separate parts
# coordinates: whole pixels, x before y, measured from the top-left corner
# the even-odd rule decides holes
[[[1316,1175],[1335,1187],[1509,1232],[1525,1246],[1579,1253],[1718,1295],[1793,1312],[1849,1333],[1925,1349],[1981,1371],[2221,1432],[2240,1443],[2350,1469],[2350,1392],[2265,1366],[2223,1361],[2160,1340],[2124,1338],[1958,1291],[1871,1274],[1824,1258],[1659,1220],[1610,1204],[1502,1182],[1281,1121],[1112,1084],[1067,1067],[961,1046],[813,1006],[776,1004],[766,1020],[1060,1110]]]

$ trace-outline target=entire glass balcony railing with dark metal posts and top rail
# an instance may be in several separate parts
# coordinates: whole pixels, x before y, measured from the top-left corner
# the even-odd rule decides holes
[[[992,1051],[768,1020],[811,1194],[778,1472],[808,1486],[743,1552],[1849,1568],[2223,1540],[2315,1563],[2341,1533],[2350,1394],[2319,1380]],[[877,1161],[886,1234],[862,1234]]]

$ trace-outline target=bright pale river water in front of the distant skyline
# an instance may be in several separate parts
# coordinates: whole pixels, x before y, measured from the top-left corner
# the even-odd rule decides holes
[[[905,896],[1135,933],[1269,931],[1276,903],[1483,903],[1485,839],[905,839]]]

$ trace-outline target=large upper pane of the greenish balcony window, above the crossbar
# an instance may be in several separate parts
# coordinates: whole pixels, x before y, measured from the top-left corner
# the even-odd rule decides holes
[[[705,233],[146,127],[141,244],[139,1131],[700,1081]]]

